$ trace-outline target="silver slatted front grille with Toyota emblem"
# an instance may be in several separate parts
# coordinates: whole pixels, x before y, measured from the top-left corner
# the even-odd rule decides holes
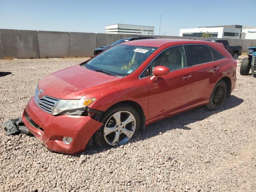
[[[56,107],[56,105],[60,101],[60,99],[53,98],[53,97],[50,97],[50,96],[47,96],[47,95],[44,95],[41,98],[39,98],[39,96],[38,96],[38,87],[35,90],[34,100],[36,102],[36,105],[39,108],[41,108],[43,111],[45,111],[46,113],[49,113],[49,114],[52,114],[54,108]]]

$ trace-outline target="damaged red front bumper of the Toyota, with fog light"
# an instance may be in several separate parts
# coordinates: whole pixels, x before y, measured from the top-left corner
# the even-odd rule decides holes
[[[67,154],[83,151],[93,134],[102,126],[101,122],[90,116],[50,115],[36,106],[34,98],[26,105],[22,121],[46,148]],[[63,137],[71,137],[71,144],[63,142]]]

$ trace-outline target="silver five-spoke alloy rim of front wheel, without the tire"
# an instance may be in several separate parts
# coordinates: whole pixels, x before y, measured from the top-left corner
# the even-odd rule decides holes
[[[129,111],[118,111],[108,118],[103,135],[105,141],[111,146],[126,143],[132,138],[136,129],[136,120]]]

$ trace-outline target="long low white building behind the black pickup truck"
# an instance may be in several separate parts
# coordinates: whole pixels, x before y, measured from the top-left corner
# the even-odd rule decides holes
[[[239,39],[241,32],[241,25],[208,26],[190,29],[180,29],[180,36],[201,37],[203,33],[208,33],[213,38]]]

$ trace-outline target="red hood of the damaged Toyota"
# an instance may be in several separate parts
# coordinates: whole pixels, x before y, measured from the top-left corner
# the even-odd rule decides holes
[[[44,77],[38,89],[58,99],[80,99],[82,96],[121,82],[122,77],[110,76],[76,65]]]

